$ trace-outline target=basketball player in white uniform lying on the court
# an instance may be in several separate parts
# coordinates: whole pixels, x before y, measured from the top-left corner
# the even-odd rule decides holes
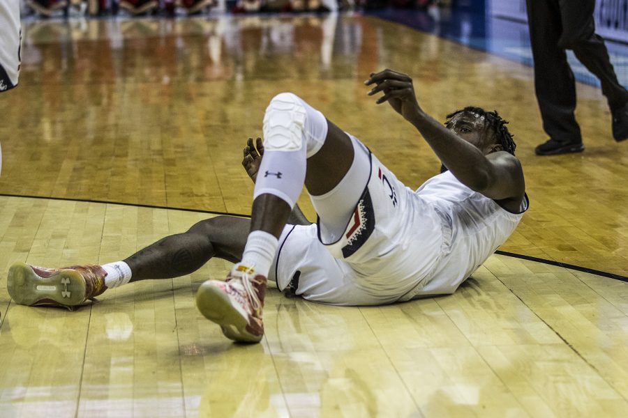
[[[216,256],[235,265],[226,281],[200,286],[197,307],[225,336],[249,342],[264,334],[269,279],[281,291],[337,305],[453,293],[528,208],[506,121],[466,107],[443,126],[419,107],[408,75],[384,70],[365,84],[374,85],[369,95],[383,93],[377,104],[388,102],[419,130],[448,171],[416,191],[405,187],[358,139],[281,93],[266,109],[259,153],[251,139],[244,148],[243,164],[255,180],[250,220],[207,219],[102,266],[17,263],[8,292],[19,304],[73,307],[129,281],[189,274]],[[294,203],[304,184],[316,224]]]

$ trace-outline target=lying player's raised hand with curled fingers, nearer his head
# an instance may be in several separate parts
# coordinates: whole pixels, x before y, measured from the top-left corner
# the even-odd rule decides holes
[[[371,72],[371,77],[364,84],[367,86],[375,84],[375,87],[368,92],[368,95],[374,95],[382,91],[384,95],[378,98],[376,103],[389,102],[391,107],[410,123],[421,112],[417,97],[414,95],[412,78],[408,75],[389,69],[381,72]]]

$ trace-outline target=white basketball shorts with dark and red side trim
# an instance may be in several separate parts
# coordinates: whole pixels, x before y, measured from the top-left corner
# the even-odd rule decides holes
[[[269,279],[284,293],[337,305],[410,300],[443,254],[442,218],[374,155],[345,233],[327,242],[317,224],[288,225]]]

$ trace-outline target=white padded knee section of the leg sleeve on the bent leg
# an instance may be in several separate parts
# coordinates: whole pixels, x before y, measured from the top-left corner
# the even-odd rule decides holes
[[[306,147],[306,156],[320,150],[327,137],[327,120],[293,93],[280,93],[264,114],[264,150],[297,151]]]

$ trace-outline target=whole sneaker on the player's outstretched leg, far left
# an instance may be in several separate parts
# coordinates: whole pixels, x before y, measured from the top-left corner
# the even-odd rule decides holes
[[[73,309],[107,289],[106,275],[100,265],[44,268],[15,263],[9,268],[6,289],[17,304]]]

